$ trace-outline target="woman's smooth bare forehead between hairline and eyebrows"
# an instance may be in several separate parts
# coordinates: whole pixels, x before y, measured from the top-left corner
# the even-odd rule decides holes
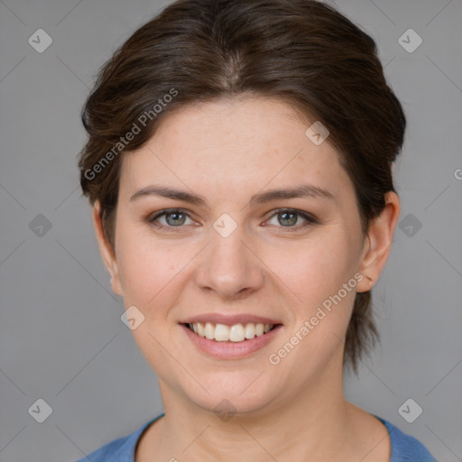
[[[183,106],[162,120],[143,148],[124,155],[121,193],[151,183],[203,196],[307,183],[334,195],[352,189],[335,148],[327,141],[313,143],[306,135],[309,126],[277,99]]]

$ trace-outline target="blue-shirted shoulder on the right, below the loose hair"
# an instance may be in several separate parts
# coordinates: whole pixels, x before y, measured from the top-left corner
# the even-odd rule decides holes
[[[377,416],[375,416],[377,417]],[[386,427],[392,442],[390,462],[436,462],[429,450],[420,443],[419,439],[411,437],[399,430],[388,420],[377,417]]]

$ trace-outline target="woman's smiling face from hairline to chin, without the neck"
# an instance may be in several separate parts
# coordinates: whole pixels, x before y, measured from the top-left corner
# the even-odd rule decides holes
[[[115,258],[100,245],[162,393],[249,412],[340,376],[386,233],[362,235],[338,153],[308,126],[278,100],[201,103],[123,158]]]

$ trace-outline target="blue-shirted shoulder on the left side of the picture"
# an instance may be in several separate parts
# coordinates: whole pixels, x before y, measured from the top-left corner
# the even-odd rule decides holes
[[[77,462],[88,462],[88,460],[91,460],[91,462],[134,462],[134,449],[136,448],[138,439],[140,439],[143,431],[146,430],[154,420],[159,419],[159,417],[143,424],[142,427],[135,430],[130,435],[114,439],[101,448],[79,458]]]

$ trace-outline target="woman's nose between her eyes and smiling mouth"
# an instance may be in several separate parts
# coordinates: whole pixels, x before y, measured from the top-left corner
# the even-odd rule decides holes
[[[245,239],[242,227],[237,226],[227,237],[212,229],[210,241],[200,254],[197,285],[224,300],[239,300],[263,287],[264,264]]]

